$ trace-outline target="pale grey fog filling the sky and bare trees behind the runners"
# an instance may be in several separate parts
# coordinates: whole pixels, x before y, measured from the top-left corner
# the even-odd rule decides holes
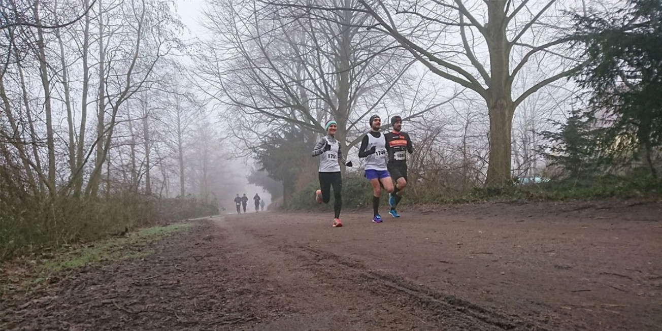
[[[581,49],[561,38],[573,27],[568,11],[604,10],[602,1],[508,1],[496,10],[467,0],[420,1],[409,13],[384,0],[369,13],[359,8],[368,3],[343,2],[350,7],[339,16],[337,1],[311,11],[297,2],[150,0],[100,3],[101,12],[81,16],[64,2],[43,5],[44,20],[71,24],[3,28],[13,41],[3,46],[0,118],[12,185],[193,197],[226,210],[237,193],[271,203],[283,194],[274,181],[286,195],[310,189],[310,150],[330,118],[357,164],[343,169],[350,173],[361,173],[357,146],[377,114],[383,129],[403,118],[420,147],[412,166],[421,180],[445,171],[471,187],[539,175],[540,132],[581,107],[568,79]],[[495,31],[512,52],[485,33],[489,13],[511,15]]]

